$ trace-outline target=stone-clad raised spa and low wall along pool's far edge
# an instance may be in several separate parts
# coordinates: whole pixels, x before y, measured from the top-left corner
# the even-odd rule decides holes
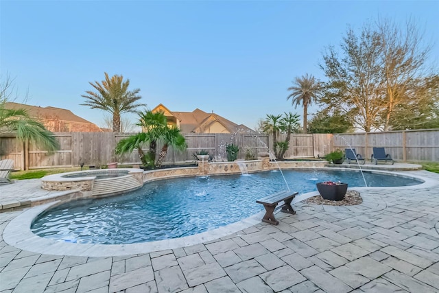
[[[82,196],[104,196],[106,194],[119,194],[124,191],[136,189],[143,183],[163,178],[176,178],[186,176],[209,176],[223,174],[243,174],[242,169],[248,173],[277,170],[277,169],[315,169],[324,167],[326,161],[282,161],[270,159],[268,153],[259,153],[257,160],[233,162],[199,161],[198,167],[176,167],[143,171],[143,169],[105,169],[86,172],[69,172],[54,174],[41,178],[41,187],[46,190],[78,191]],[[126,172],[115,178],[99,179],[97,175],[102,172]],[[74,177],[69,177],[71,175]]]

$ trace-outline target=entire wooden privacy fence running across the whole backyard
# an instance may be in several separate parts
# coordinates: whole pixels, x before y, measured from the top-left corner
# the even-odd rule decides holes
[[[49,154],[32,143],[16,140],[14,134],[0,135],[0,159],[12,159],[15,169],[72,167],[139,163],[137,151],[116,157],[115,145],[130,133],[113,132],[56,132],[60,150]],[[169,149],[165,163],[193,161],[198,150],[207,150],[217,161],[226,161],[226,144],[239,145],[238,159],[247,150],[253,154],[272,149],[272,137],[266,134],[184,134],[188,148],[183,152]],[[285,134],[278,141],[285,140]],[[292,134],[285,158],[305,159],[324,156],[333,150],[355,148],[357,153],[370,158],[372,147],[385,147],[396,161],[439,161],[439,129],[368,132],[352,134]],[[161,148],[161,145],[158,145]],[[147,151],[147,150],[145,150]]]

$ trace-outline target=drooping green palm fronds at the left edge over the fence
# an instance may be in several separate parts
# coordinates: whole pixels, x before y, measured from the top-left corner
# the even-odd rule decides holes
[[[0,133],[15,132],[20,141],[31,141],[49,152],[59,150],[56,137],[42,123],[29,117],[24,109],[5,108],[6,99],[0,100]]]

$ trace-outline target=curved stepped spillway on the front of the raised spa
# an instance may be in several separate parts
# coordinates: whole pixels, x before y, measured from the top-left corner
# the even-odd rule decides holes
[[[114,194],[130,189],[136,189],[141,186],[142,184],[132,175],[95,180],[92,194],[93,196],[102,196],[104,194]]]

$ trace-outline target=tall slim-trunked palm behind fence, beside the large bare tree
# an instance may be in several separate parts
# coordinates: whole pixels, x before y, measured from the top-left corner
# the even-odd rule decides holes
[[[292,93],[287,97],[292,98],[292,104],[297,108],[298,105],[303,106],[303,132],[307,133],[307,115],[308,106],[316,99],[320,85],[313,75],[302,75],[301,78],[296,78],[293,82],[293,86],[289,87],[287,91]]]

